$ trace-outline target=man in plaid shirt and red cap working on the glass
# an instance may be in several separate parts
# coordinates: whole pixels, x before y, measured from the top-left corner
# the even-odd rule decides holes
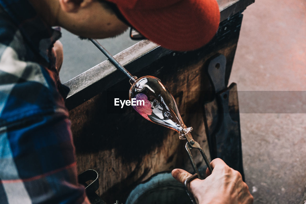
[[[89,203],[58,78],[61,26],[87,38],[132,25],[148,39],[183,51],[203,46],[219,23],[215,0],[0,0],[0,201]],[[55,43],[55,44],[54,44]],[[54,47],[53,47],[54,45]],[[252,203],[241,175],[223,161],[190,184],[198,203]],[[180,182],[190,176],[175,169]]]

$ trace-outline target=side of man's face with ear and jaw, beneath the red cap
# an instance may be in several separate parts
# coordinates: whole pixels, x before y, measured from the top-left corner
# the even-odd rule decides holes
[[[58,24],[86,38],[107,38],[124,32],[125,25],[109,8],[97,0],[59,0]],[[80,2],[80,3],[77,3]]]

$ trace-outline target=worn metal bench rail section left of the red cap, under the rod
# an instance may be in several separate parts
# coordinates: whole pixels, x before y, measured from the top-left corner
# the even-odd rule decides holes
[[[114,57],[133,74],[170,52],[172,51],[149,40],[143,40]],[[64,83],[70,88],[66,98],[66,107],[71,110],[123,79],[127,80],[127,84],[129,83],[125,74],[117,70],[109,60],[105,60]]]

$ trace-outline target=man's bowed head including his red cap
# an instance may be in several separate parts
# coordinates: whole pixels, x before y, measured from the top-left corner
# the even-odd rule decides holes
[[[215,35],[220,13],[216,0],[29,0],[52,8],[54,25],[88,38],[115,36],[127,29],[168,49],[202,47]],[[110,3],[111,2],[111,3]],[[42,12],[40,6],[40,13]],[[51,21],[52,22],[52,21]],[[52,23],[51,23],[52,24]]]

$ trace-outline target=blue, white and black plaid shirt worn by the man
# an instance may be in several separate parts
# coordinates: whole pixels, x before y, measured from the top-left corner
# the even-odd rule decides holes
[[[2,204],[89,203],[51,54],[60,36],[27,0],[0,0]]]

